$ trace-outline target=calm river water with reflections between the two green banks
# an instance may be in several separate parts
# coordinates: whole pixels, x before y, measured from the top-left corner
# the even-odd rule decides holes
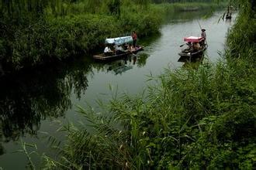
[[[39,167],[43,152],[54,155],[48,142],[53,138],[49,136],[64,140],[64,133],[57,132],[60,122],[79,121],[78,106],[97,109],[98,99],[107,102],[111,98],[109,89],[130,95],[140,93],[147,86],[147,75],[157,76],[164,68],[181,67],[179,46],[185,36],[200,35],[199,23],[207,33],[206,59],[216,63],[234,19],[221,20],[223,12],[203,19],[208,14],[206,11],[169,14],[159,35],[139,39],[138,43],[145,49],[136,57],[97,63],[92,56],[83,56],[47,69],[3,77],[0,80],[0,169],[26,169],[26,155],[18,151],[22,149],[22,141],[36,144],[36,148],[27,146],[26,149],[38,153],[30,156]]]

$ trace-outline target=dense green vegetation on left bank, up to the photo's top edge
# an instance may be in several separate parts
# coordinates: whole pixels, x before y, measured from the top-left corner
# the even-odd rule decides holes
[[[139,38],[156,33],[164,12],[187,5],[152,5],[148,0],[1,1],[0,74],[88,53],[102,48],[106,37],[133,30]]]

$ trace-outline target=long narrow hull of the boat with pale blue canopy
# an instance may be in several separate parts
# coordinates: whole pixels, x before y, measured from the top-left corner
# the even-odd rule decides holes
[[[98,59],[98,60],[112,60],[112,59],[120,59],[124,56],[128,56],[130,54],[136,54],[137,52],[143,50],[143,46],[137,46],[135,48],[134,51],[130,52],[130,51],[127,51],[125,53],[120,53],[120,54],[113,54],[113,55],[106,55],[105,53],[101,53],[99,55],[95,55],[93,56],[94,59]]]

